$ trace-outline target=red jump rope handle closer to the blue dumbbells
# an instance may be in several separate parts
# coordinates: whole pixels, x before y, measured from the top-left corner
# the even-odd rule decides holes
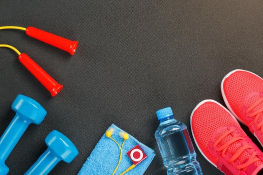
[[[33,59],[26,53],[19,55],[20,62],[50,91],[52,96],[55,96],[63,88],[53,79],[43,68],[41,68]]]

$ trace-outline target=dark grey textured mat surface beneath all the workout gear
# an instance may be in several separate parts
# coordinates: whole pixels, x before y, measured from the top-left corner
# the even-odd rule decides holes
[[[52,98],[15,52],[0,49],[0,134],[19,93],[48,111],[8,158],[10,174],[23,174],[37,160],[53,129],[72,139],[80,154],[51,174],[76,174],[111,123],[156,150],[145,174],[165,174],[155,111],[171,106],[189,128],[199,101],[223,102],[226,73],[242,68],[263,76],[262,9],[262,0],[1,0],[1,25],[35,26],[79,41],[70,56],[23,31],[0,31],[2,43],[29,54],[65,85]],[[196,152],[204,174],[221,174]]]

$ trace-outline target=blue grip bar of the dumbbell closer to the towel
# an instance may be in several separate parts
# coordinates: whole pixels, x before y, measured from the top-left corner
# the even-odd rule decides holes
[[[39,157],[39,159],[29,168],[25,175],[45,175],[48,174],[60,162],[49,148]]]

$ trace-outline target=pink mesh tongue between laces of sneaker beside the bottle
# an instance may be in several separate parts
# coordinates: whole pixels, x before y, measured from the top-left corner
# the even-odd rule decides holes
[[[229,128],[221,128],[219,132],[217,132],[216,138],[219,138],[222,134],[224,134],[225,132],[227,132],[229,130]],[[222,146],[223,144],[225,144],[226,142],[228,142],[232,137],[233,137],[233,133],[228,134],[226,137],[224,137],[219,143],[218,146]],[[246,136],[245,133],[241,133],[241,136]],[[241,146],[243,146],[243,143],[240,140],[237,140],[235,142],[233,142],[232,144],[230,144],[226,150],[226,153],[229,153],[230,155],[234,155],[235,152],[237,152],[239,150],[239,148],[241,148]],[[247,151],[244,150],[236,160],[238,160],[240,162],[240,164],[243,164],[244,162],[246,162],[249,158],[251,157],[251,154]],[[256,162],[254,162],[253,164],[257,167],[259,164],[262,164],[263,161],[258,160]]]

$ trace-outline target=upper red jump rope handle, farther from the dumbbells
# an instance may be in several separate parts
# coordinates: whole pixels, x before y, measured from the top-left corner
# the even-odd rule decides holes
[[[69,40],[33,26],[27,27],[26,33],[31,37],[39,39],[62,50],[68,51],[72,55],[75,53],[78,47],[78,41]]]

